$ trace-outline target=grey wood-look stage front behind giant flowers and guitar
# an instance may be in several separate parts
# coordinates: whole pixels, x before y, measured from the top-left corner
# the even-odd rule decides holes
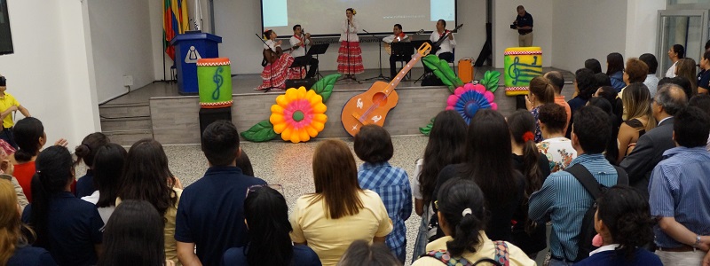
[[[474,79],[481,79],[486,70],[493,69],[489,66],[476,67]],[[502,69],[495,70],[500,72]],[[558,69],[546,67],[543,70],[548,72]],[[389,69],[384,69],[383,72],[388,74]],[[569,100],[574,92],[573,74],[561,72],[566,81],[563,95]],[[324,71],[322,74],[333,73]],[[390,111],[384,124],[384,128],[390,131],[392,136],[419,135],[419,128],[426,126],[432,117],[446,107],[446,98],[451,95],[446,87],[422,87],[420,82],[414,83],[422,73],[423,68],[414,68],[412,79],[398,85],[398,106]],[[362,79],[378,74],[379,69],[368,69],[364,74],[358,75],[362,83],[343,81],[335,84],[326,103],[328,121],[325,129],[319,133],[319,138],[350,137],[340,122],[343,106],[352,96],[369,89],[375,82]],[[240,132],[259,121],[268,120],[276,97],[285,91],[271,90],[264,93],[254,90],[261,84],[259,74],[235,75],[232,84],[232,121]],[[499,90],[494,93],[495,102],[499,111],[508,115],[515,111],[516,101],[514,97],[505,96],[502,76],[499,84]],[[179,95],[176,82],[154,82],[99,106],[102,132],[110,137],[112,142],[121,145],[132,145],[145,137],[153,137],[163,145],[199,144],[199,111],[199,98]],[[280,141],[280,137],[276,140]]]

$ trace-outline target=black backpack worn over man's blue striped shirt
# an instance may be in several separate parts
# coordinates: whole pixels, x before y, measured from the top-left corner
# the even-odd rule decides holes
[[[627,172],[623,168],[616,168],[617,182],[616,184],[628,184]],[[596,230],[594,229],[594,215],[596,214],[596,199],[598,199],[602,193],[604,193],[608,187],[603,184],[599,184],[596,178],[589,173],[589,170],[581,164],[575,164],[572,167],[564,169],[574,176],[574,178],[579,181],[584,189],[592,196],[594,204],[588,208],[587,212],[582,218],[582,226],[580,228],[579,242],[577,243],[577,257],[574,258],[572,262],[580,262],[589,256],[589,253],[596,249],[596,246],[592,246],[592,239],[596,236]]]

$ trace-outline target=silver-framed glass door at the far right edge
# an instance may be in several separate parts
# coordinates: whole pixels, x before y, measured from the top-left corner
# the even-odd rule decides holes
[[[668,50],[674,44],[681,44],[685,56],[699,62],[708,36],[707,13],[707,10],[659,11],[659,77],[664,77],[668,67],[673,65],[668,59]]]

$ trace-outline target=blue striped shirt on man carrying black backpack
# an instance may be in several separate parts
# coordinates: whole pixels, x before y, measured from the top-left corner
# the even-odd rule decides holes
[[[611,187],[617,183],[616,169],[604,159],[603,154],[581,154],[572,160],[569,167],[578,163],[587,168],[600,184]],[[530,196],[530,219],[540,223],[552,221],[549,246],[553,256],[568,261],[577,257],[582,219],[593,203],[584,186],[566,171],[548,176],[540,191]]]

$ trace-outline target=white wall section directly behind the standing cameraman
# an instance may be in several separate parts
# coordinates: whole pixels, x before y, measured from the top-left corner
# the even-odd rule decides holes
[[[596,3],[588,0],[587,2]],[[517,30],[510,29],[510,24],[516,20],[518,5],[525,6],[525,11],[533,16],[533,46],[542,48],[542,66],[553,66],[553,59],[555,59],[555,54],[552,52],[553,0],[493,1],[493,66],[502,68],[503,51],[518,46]],[[556,16],[557,13],[554,15]]]

